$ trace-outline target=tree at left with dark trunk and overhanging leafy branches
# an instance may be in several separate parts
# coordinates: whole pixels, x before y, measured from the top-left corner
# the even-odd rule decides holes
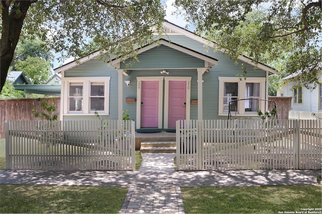
[[[159,0],[4,0],[1,14],[0,92],[21,37],[37,36],[63,57],[97,49],[118,56],[146,44],[151,27],[162,28],[165,11]]]

